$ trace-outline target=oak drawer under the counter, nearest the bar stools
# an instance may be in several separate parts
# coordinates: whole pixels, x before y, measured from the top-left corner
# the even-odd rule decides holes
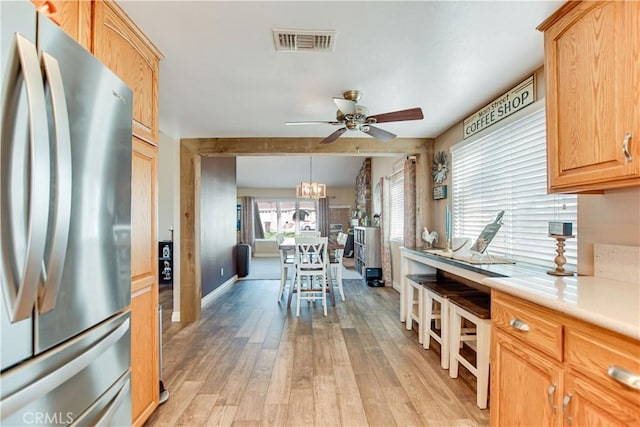
[[[551,312],[494,291],[491,320],[494,326],[556,360],[562,361],[562,324]]]

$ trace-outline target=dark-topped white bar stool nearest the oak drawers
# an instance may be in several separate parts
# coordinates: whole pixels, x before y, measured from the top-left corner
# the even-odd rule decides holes
[[[449,376],[458,377],[458,363],[462,363],[476,377],[476,404],[487,407],[489,391],[489,348],[491,344],[491,297],[487,294],[451,295],[449,297],[451,346]],[[464,327],[464,322],[473,327]],[[460,353],[467,343],[476,352],[476,366]]]

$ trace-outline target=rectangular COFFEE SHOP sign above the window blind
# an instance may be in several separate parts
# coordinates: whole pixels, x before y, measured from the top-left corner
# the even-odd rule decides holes
[[[535,101],[535,94],[535,79],[532,74],[509,92],[467,117],[463,122],[464,139],[532,104]]]

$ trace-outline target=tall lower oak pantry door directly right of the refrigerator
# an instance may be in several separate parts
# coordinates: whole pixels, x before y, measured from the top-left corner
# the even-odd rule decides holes
[[[133,424],[158,406],[157,147],[133,138],[131,171],[131,397]]]

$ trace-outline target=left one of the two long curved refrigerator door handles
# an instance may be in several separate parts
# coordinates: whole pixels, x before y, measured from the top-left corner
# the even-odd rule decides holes
[[[40,268],[46,245],[46,230],[49,213],[50,161],[49,128],[45,106],[44,86],[40,62],[35,45],[16,33],[13,38],[12,57],[7,68],[7,81],[3,88],[5,114],[2,117],[3,133],[0,149],[2,170],[0,172],[0,255],[2,272],[0,281],[7,305],[8,317],[17,322],[31,316],[38,291]],[[14,251],[14,233],[11,218],[11,160],[14,142],[13,122],[15,106],[18,103],[17,85],[20,70],[24,79],[29,113],[29,182],[25,185],[28,193],[28,217],[26,226],[26,247],[22,271]],[[13,77],[13,79],[11,79]],[[12,113],[13,111],[13,113]],[[26,165],[25,165],[26,166]],[[15,166],[14,166],[15,167]]]

